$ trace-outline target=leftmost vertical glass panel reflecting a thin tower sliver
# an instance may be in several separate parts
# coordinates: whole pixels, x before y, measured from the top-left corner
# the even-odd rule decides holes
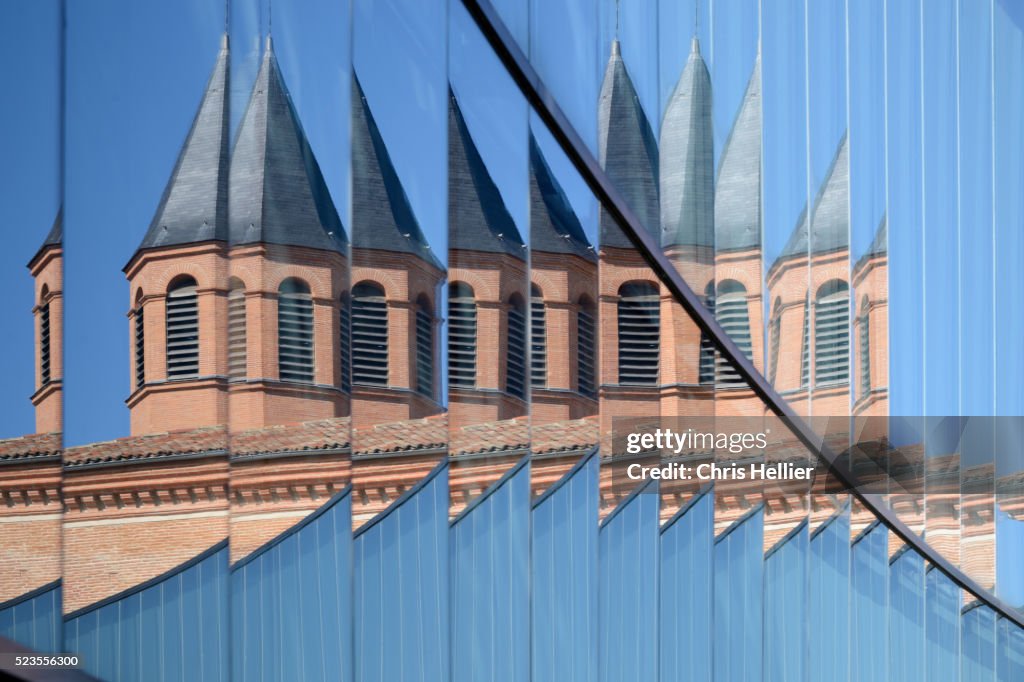
[[[44,652],[62,650],[61,20],[57,0],[0,8],[0,57],[25,65],[0,77],[0,637]]]

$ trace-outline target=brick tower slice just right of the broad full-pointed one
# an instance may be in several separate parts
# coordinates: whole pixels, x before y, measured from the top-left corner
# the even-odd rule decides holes
[[[358,79],[352,80],[352,416],[421,419],[439,404],[438,294],[427,243]]]

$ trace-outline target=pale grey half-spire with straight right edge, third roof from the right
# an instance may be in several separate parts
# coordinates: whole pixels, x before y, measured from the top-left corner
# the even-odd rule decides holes
[[[761,245],[761,55],[722,147],[715,182],[715,248]]]

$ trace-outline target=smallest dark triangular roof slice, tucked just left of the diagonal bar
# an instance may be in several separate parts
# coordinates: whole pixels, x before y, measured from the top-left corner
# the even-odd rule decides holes
[[[529,246],[597,260],[583,225],[532,133],[529,135]]]

